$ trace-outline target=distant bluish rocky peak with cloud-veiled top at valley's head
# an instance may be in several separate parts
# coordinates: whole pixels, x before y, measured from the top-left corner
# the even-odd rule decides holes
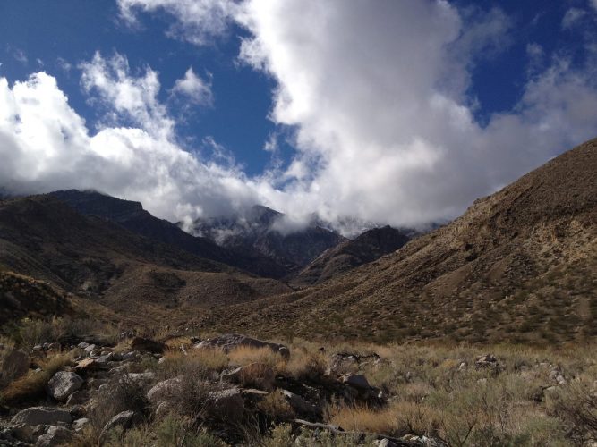
[[[345,240],[318,223],[286,233],[284,217],[269,207],[257,205],[242,214],[199,219],[194,223],[194,232],[238,253],[257,251],[283,266],[288,274]]]

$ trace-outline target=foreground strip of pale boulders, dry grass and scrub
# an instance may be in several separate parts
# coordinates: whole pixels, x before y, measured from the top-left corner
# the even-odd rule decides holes
[[[2,352],[0,445],[594,445],[594,350],[122,333]],[[375,350],[373,350],[375,349]],[[582,355],[583,358],[579,356]]]

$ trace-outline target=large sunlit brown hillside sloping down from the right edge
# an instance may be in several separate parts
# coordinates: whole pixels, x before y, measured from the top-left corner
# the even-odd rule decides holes
[[[397,252],[304,291],[214,310],[262,335],[553,343],[597,334],[597,139]]]

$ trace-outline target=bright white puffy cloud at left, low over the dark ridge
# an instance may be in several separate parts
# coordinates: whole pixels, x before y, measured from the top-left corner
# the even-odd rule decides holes
[[[0,178],[13,193],[64,188],[96,189],[140,200],[173,221],[231,213],[257,198],[234,164],[183,150],[175,142],[157,75],[128,72],[121,55],[94,56],[81,65],[82,85],[130,127],[100,125],[90,131],[45,72],[10,86],[0,78]],[[106,121],[107,122],[107,121]]]

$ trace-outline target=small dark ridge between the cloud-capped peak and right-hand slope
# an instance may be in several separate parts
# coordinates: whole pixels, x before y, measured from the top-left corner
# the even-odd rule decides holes
[[[357,266],[362,266],[400,249],[411,240],[400,230],[390,226],[373,228],[354,240],[345,240],[336,247],[324,251],[320,257],[293,278],[293,287],[323,283]]]

